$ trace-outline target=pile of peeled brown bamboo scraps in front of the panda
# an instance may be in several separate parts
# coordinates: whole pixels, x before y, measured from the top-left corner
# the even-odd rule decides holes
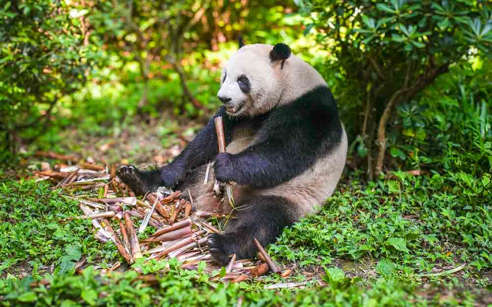
[[[143,201],[135,197],[74,199],[79,201],[80,208],[86,214],[77,218],[91,218],[97,229],[95,236],[102,242],[111,240],[127,263],[133,263],[143,256],[157,260],[176,257],[183,263],[183,269],[197,269],[201,261],[206,263],[205,272],[212,273],[221,268],[213,262],[207,246],[207,235],[221,231],[206,221],[206,218],[220,215],[204,211],[191,214],[191,203],[182,198],[180,191],[170,195],[152,193]],[[137,218],[136,223],[140,224],[138,229],[131,217]],[[119,227],[114,229],[110,219],[118,220]],[[139,240],[137,233],[144,232],[148,224],[157,230],[146,239]],[[282,276],[290,274],[290,270],[281,272],[256,240],[255,244],[265,263],[236,260],[236,256],[232,255],[226,274],[212,280],[240,282],[269,271]]]

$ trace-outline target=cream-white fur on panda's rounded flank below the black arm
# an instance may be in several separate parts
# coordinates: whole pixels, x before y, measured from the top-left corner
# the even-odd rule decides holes
[[[347,155],[347,135],[342,132],[342,139],[332,153],[309,167],[299,176],[272,189],[263,190],[263,195],[276,195],[299,204],[301,216],[317,212],[337,187]]]

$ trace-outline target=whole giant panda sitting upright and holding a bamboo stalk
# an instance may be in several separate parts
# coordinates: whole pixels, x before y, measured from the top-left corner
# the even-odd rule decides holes
[[[252,257],[253,238],[265,246],[317,211],[338,183],[347,136],[326,82],[283,43],[241,47],[223,67],[217,97],[223,106],[170,164],[152,171],[123,166],[118,175],[140,195],[158,186],[189,189],[203,210],[217,205],[214,180],[203,184],[213,162],[216,179],[237,183],[234,217],[224,234],[208,237],[213,258],[225,264],[234,253]],[[216,116],[223,117],[226,153],[218,153]],[[228,206],[224,198],[219,207]]]

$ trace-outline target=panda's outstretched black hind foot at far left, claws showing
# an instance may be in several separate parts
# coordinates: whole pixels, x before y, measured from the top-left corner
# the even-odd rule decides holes
[[[124,165],[118,169],[117,174],[118,177],[130,187],[135,195],[144,195],[145,193],[156,189],[162,183],[159,169],[140,171],[132,165]]]

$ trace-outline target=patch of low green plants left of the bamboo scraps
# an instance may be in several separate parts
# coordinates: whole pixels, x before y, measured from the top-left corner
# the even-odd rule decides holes
[[[89,220],[60,220],[81,214],[76,202],[44,182],[0,184],[0,274],[37,274],[54,264],[63,273],[82,255],[89,262],[114,258],[95,240]],[[44,268],[44,269],[41,269]]]

